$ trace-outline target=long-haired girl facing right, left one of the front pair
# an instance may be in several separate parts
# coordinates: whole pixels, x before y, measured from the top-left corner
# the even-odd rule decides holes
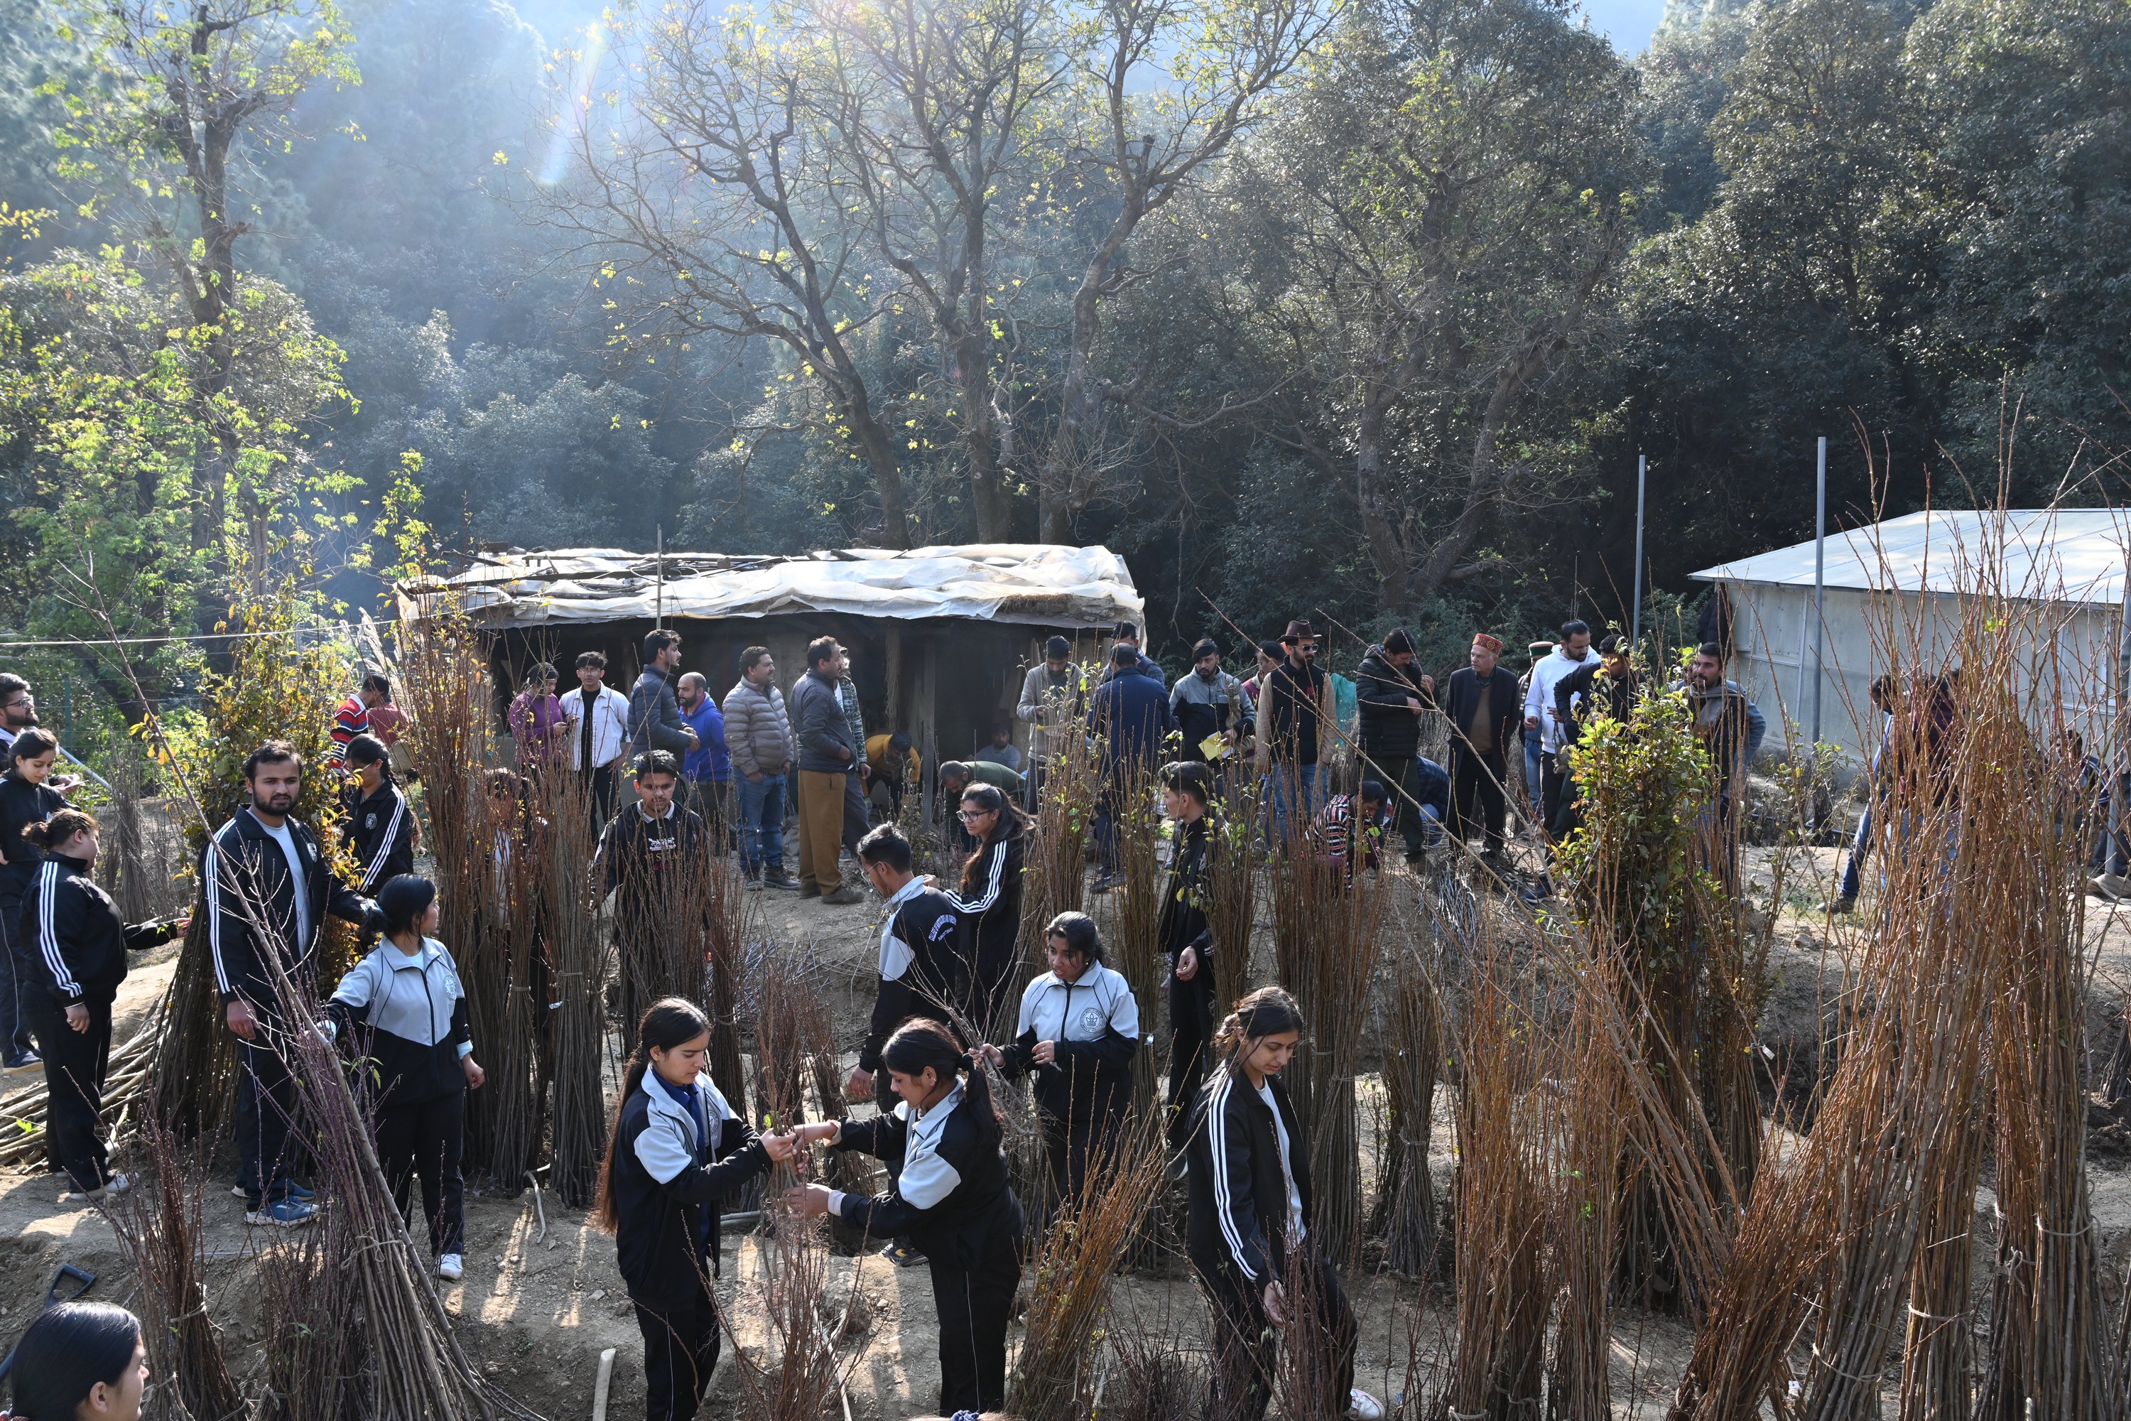
[[[682,997],[644,1012],[614,1104],[592,1223],[614,1253],[644,1332],[644,1415],[688,1421],[718,1366],[718,1206],[795,1153],[757,1138],[703,1074],[710,1018]]]

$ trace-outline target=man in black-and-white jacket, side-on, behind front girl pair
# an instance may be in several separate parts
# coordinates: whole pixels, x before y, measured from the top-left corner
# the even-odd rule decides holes
[[[897,1099],[889,1089],[889,1076],[880,1069],[880,1050],[899,1025],[927,1018],[953,1029],[957,1014],[974,1020],[970,1001],[974,974],[961,952],[955,899],[933,888],[912,867],[910,839],[895,824],[882,824],[859,839],[859,869],[874,893],[889,901],[889,918],[880,925],[874,1016],[844,1091],[852,1099],[872,1097],[880,1110],[893,1110]],[[891,1180],[897,1170],[899,1165],[891,1161]],[[899,1268],[925,1261],[908,1238],[889,1240],[880,1255]]]

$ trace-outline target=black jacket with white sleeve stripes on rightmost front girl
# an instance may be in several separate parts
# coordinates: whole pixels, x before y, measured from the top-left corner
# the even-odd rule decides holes
[[[1210,1283],[1251,1291],[1287,1276],[1287,1248],[1302,1238],[1296,1225],[1306,1229],[1311,1216],[1308,1136],[1279,1076],[1266,1078],[1266,1091],[1272,1106],[1240,1072],[1217,1069],[1191,1106],[1187,1144],[1191,1265]]]

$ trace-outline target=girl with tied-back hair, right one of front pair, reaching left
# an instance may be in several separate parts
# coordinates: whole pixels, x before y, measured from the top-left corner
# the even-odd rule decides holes
[[[999,1116],[976,1057],[936,1020],[904,1023],[880,1052],[901,1104],[869,1121],[801,1125],[803,1146],[827,1140],[895,1161],[878,1197],[801,1185],[801,1216],[835,1214],[876,1238],[910,1234],[931,1263],[940,1314],[940,1410],[997,1410],[1006,1402],[1006,1327],[1021,1287],[1021,1202],[1006,1178]],[[963,1082],[967,1076],[967,1082]]]

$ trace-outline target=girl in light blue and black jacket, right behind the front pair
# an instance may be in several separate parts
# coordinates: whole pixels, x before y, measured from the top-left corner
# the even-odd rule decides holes
[[[1051,969],[1021,993],[1012,1044],[985,1055],[1008,1080],[1036,1076],[1051,1195],[1078,1202],[1125,1125],[1140,1003],[1123,974],[1104,967],[1102,935],[1085,912],[1051,918],[1044,961]]]

